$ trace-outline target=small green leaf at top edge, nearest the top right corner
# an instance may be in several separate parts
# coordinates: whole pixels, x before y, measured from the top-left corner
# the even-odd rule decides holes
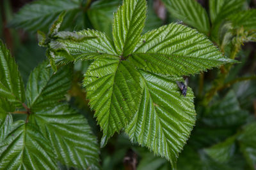
[[[220,22],[230,15],[243,9],[244,0],[211,0],[209,1],[209,11],[211,22]]]

